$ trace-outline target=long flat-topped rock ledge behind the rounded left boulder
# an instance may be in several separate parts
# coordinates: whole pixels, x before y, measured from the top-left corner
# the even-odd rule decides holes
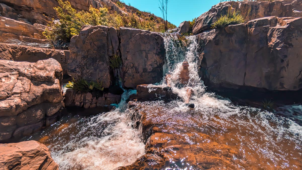
[[[53,50],[47,48],[0,43],[0,59],[35,63],[38,60],[53,58],[61,64],[63,74],[66,76],[69,54],[70,52],[67,50]]]

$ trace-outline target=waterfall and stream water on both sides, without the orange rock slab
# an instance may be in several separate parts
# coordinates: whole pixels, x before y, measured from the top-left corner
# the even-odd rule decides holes
[[[166,34],[164,42],[167,54],[163,77],[171,74],[173,87],[182,69],[182,61],[188,60],[190,83],[194,84],[191,102],[196,107],[194,111],[188,110],[182,101],[145,102],[148,106],[145,111],[150,111],[147,119],[174,127],[174,131],[167,130],[169,133],[191,131],[211,136],[215,142],[227,145],[240,155],[230,161],[233,164],[230,167],[236,169],[302,169],[301,126],[286,117],[252,107],[235,106],[227,98],[207,93],[197,72],[196,38],[190,36],[184,42],[177,35]],[[162,81],[158,86],[166,85]],[[185,95],[185,89],[172,90],[179,96]],[[60,170],[109,170],[130,165],[145,152],[140,132],[132,128],[125,108],[128,96],[133,93],[135,90],[125,91],[114,111],[96,116],[69,114],[23,140],[37,140],[47,145]],[[154,117],[151,110],[159,107],[163,114]],[[302,110],[300,106],[294,108],[298,112]],[[192,135],[185,139],[194,144],[198,138]],[[190,166],[179,167],[186,168]]]

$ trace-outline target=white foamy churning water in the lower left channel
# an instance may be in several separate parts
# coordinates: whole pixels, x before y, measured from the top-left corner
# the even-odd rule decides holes
[[[119,109],[94,116],[87,123],[88,128],[102,131],[102,136],[84,137],[76,134],[79,138],[84,137],[79,140],[79,147],[66,152],[64,148],[70,146],[61,146],[62,150],[52,152],[60,170],[109,170],[128,165],[144,154],[145,145],[140,140],[139,132],[131,127],[131,122]],[[99,129],[100,125],[105,125],[105,129]],[[81,129],[80,134],[85,130]],[[75,143],[68,142],[66,145]]]

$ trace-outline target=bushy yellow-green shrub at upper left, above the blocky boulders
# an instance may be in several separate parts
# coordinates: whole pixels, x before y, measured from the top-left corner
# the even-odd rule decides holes
[[[58,0],[59,7],[54,7],[59,21],[49,23],[50,29],[46,29],[43,35],[52,42],[69,42],[70,38],[79,34],[83,25],[108,25],[107,8],[89,7],[89,11],[79,11],[72,8],[70,2]]]

